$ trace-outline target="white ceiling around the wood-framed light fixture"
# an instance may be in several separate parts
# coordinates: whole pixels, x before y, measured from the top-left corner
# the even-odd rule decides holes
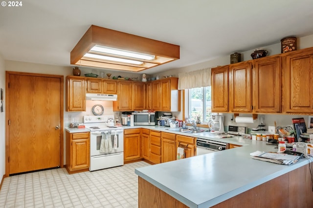
[[[141,72],[155,74],[311,35],[312,21],[313,0],[22,0],[0,6],[0,54],[70,66],[94,24],[179,45],[179,60]]]

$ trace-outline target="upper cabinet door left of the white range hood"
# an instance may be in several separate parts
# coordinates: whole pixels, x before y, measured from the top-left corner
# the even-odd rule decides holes
[[[67,111],[86,111],[85,77],[67,77]]]

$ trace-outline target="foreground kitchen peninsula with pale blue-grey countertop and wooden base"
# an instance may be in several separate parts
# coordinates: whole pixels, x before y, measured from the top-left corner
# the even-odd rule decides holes
[[[250,158],[254,151],[277,151],[266,142],[194,136],[243,147],[136,169],[139,208],[313,207],[309,160],[277,165]]]

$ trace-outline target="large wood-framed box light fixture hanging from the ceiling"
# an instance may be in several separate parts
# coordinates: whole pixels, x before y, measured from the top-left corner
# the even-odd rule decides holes
[[[179,45],[91,25],[70,52],[70,64],[140,72],[179,57]]]

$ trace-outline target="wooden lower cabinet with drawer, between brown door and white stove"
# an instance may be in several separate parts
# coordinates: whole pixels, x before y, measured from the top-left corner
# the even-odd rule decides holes
[[[89,170],[90,137],[89,132],[66,132],[66,169],[68,173]]]

